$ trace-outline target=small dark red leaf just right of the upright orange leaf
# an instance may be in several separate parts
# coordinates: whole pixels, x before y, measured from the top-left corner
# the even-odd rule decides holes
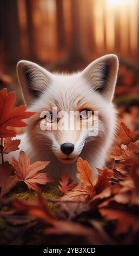
[[[114,176],[114,173],[112,172],[111,169],[108,169],[108,168],[104,168],[103,170],[99,169],[99,168],[96,168],[96,169],[97,169],[98,173],[100,173],[100,174],[97,176],[94,187],[95,187],[96,194],[99,194],[106,187],[110,186],[110,184],[111,184],[110,178],[112,178],[112,176]]]

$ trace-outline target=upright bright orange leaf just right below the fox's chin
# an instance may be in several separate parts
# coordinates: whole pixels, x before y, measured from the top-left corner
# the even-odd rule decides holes
[[[89,163],[85,160],[83,161],[83,159],[79,157],[77,161],[77,169],[79,172],[77,173],[77,178],[80,179],[83,183],[93,186],[93,171]]]

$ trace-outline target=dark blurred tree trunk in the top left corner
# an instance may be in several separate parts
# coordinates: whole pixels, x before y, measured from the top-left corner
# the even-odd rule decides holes
[[[0,1],[0,41],[6,63],[16,63],[21,53],[17,0]]]

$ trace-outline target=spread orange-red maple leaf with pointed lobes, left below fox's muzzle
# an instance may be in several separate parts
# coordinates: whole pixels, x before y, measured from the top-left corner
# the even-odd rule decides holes
[[[24,181],[25,184],[32,190],[38,191],[39,184],[46,184],[51,182],[52,179],[48,178],[47,173],[39,173],[39,170],[44,169],[49,162],[48,161],[37,161],[30,164],[30,159],[24,151],[19,153],[19,161],[12,157],[12,164],[15,168],[15,174],[19,181]]]

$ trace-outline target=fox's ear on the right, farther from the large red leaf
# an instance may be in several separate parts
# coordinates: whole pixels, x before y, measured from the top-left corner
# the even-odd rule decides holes
[[[114,96],[117,80],[118,58],[108,54],[96,59],[82,71],[82,75],[91,87],[108,101]]]

